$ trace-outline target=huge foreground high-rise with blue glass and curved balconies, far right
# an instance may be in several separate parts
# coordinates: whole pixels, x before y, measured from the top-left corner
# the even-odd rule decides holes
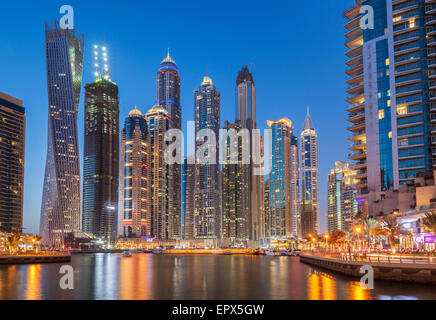
[[[386,192],[413,183],[417,173],[436,165],[431,89],[435,5],[421,0],[355,1],[344,13],[349,159],[360,202],[370,215],[377,214],[372,205]],[[363,14],[371,7],[374,28],[362,28]]]

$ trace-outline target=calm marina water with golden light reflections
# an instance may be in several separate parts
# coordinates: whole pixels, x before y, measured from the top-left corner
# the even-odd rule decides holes
[[[0,299],[436,299],[436,287],[327,274],[298,258],[267,256],[74,255],[74,290],[61,264],[0,266]]]

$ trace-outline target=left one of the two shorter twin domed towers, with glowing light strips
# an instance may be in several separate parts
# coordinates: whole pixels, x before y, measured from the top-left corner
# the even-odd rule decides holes
[[[150,150],[147,122],[136,107],[130,111],[121,132],[120,203],[123,219],[120,237],[152,235],[150,195]],[[121,206],[120,206],[121,207]]]

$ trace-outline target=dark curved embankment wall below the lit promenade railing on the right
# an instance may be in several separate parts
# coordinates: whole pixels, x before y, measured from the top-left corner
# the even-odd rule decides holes
[[[374,269],[374,278],[377,280],[436,284],[436,264],[343,261],[307,254],[302,254],[300,261],[356,278],[364,275],[360,273],[362,266],[371,266]]]

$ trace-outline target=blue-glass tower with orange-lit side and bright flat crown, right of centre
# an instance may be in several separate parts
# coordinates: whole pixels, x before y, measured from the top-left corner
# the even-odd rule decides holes
[[[272,171],[269,180],[269,234],[273,238],[297,237],[299,232],[298,140],[292,121],[268,121],[272,130]]]

